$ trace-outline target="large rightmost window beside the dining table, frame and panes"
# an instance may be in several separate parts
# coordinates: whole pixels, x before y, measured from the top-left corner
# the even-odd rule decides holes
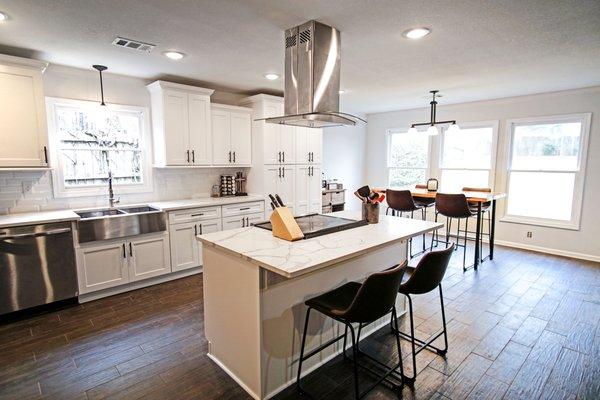
[[[579,229],[590,114],[508,121],[504,220]]]

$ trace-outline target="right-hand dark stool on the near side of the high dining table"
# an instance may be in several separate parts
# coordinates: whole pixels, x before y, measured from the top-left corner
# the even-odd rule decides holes
[[[452,220],[458,220],[458,230],[456,234],[456,247],[463,248],[463,271],[466,271],[466,260],[467,260],[467,231],[465,228],[464,243],[460,244],[460,221],[465,220],[465,227],[469,224],[469,218],[477,215],[477,211],[473,212],[469,208],[467,197],[462,194],[448,194],[438,193],[435,195],[435,222],[437,222],[438,215],[441,214],[447,218],[446,222],[446,246],[448,246],[449,239],[452,231]],[[439,233],[435,232],[435,243],[436,246],[439,243]],[[475,239],[475,245],[479,245],[479,240]],[[433,248],[433,240],[431,241],[431,247]]]

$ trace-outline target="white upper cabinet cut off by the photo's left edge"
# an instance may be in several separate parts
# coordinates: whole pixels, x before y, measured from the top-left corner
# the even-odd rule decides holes
[[[48,166],[42,84],[47,65],[0,55],[0,168]]]

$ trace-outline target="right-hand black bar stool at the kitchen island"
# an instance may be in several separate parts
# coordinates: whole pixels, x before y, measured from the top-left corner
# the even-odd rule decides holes
[[[444,311],[444,296],[442,293],[442,279],[448,268],[448,262],[454,251],[454,244],[445,250],[432,251],[423,256],[416,267],[406,267],[405,276],[408,277],[400,285],[399,293],[402,293],[408,298],[408,315],[410,319],[410,334],[398,331],[398,328],[392,324],[392,331],[400,335],[401,338],[407,339],[412,346],[412,362],[413,376],[404,376],[407,383],[412,385],[417,377],[417,354],[423,349],[435,351],[439,355],[445,355],[448,351],[448,334],[446,331],[446,313]],[[433,334],[429,339],[421,340],[415,337],[415,323],[413,319],[413,305],[411,295],[429,293],[435,288],[439,288],[440,306],[442,308],[442,330]],[[393,321],[392,321],[393,322]],[[439,349],[431,343],[441,335],[444,335],[444,348]],[[416,343],[419,348],[416,348]]]

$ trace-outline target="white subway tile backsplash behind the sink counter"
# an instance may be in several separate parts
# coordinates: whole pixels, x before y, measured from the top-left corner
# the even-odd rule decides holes
[[[229,168],[155,169],[152,193],[121,194],[116,187],[115,195],[123,204],[206,197],[212,186],[219,183],[221,174],[235,171],[237,169]],[[52,174],[47,171],[0,172],[0,214],[104,207],[107,201],[107,195],[54,198]]]

